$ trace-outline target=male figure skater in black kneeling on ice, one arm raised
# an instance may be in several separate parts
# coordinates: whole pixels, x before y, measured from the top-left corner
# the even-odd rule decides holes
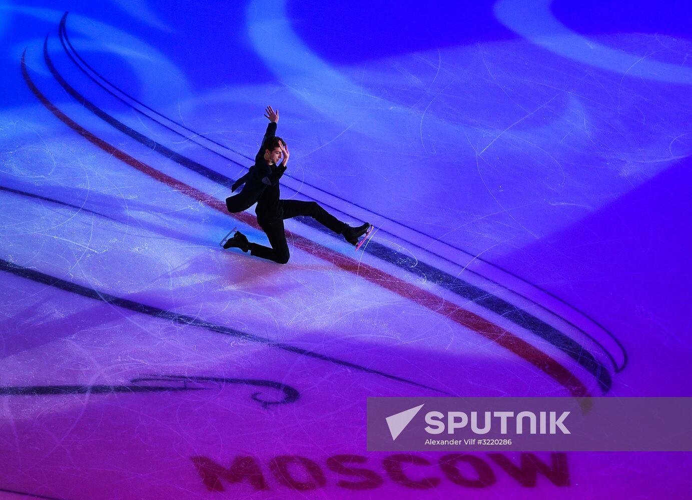
[[[286,172],[286,163],[289,163],[289,148],[282,138],[275,136],[279,110],[274,111],[271,106],[268,106],[264,111],[264,116],[268,118],[269,123],[260,151],[255,156],[255,165],[250,167],[247,174],[233,183],[232,192],[243,184],[245,186],[235,196],[226,198],[226,207],[228,212],[233,214],[247,210],[256,201],[257,223],[266,234],[271,248],[251,243],[239,231],[224,243],[224,248],[239,248],[243,252],[249,250],[251,255],[285,264],[289,261],[290,254],[284,232],[284,219],[291,219],[298,215],[311,216],[336,234],[343,234],[346,241],[352,245],[357,245],[358,238],[365,234],[370,223],[352,228],[336,219],[314,201],[280,199],[279,179]],[[279,160],[281,160],[280,163]]]

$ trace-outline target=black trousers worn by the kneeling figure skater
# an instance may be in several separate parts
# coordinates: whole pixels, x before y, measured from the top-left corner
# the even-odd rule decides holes
[[[336,219],[327,210],[320,207],[315,201],[299,201],[299,200],[279,200],[284,215],[282,218],[271,216],[266,217],[262,214],[257,215],[257,223],[266,234],[271,248],[250,243],[250,253],[256,257],[267,259],[280,264],[285,264],[289,261],[291,254],[289,252],[289,244],[286,243],[286,232],[284,231],[284,219],[292,219],[295,216],[304,215],[310,216],[320,224],[341,234],[345,223]]]

